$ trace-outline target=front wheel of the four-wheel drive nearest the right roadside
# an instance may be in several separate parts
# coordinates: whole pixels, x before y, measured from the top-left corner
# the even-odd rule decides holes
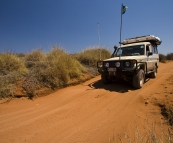
[[[140,69],[139,72],[133,76],[133,87],[137,89],[142,88],[144,84],[144,79],[145,79],[144,71]]]

